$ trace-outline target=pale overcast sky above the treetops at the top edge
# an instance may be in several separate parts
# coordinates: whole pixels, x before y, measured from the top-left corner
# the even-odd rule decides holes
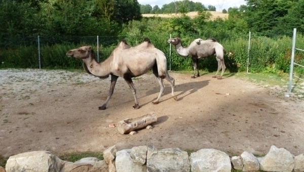
[[[137,0],[139,4],[146,5],[149,4],[152,7],[158,5],[162,8],[164,4],[170,4],[173,0]],[[178,1],[178,0],[176,0]],[[246,5],[245,0],[190,0],[193,2],[200,2],[205,7],[212,5],[216,8],[216,11],[222,11],[223,9],[229,9],[230,7],[240,7],[240,5]]]

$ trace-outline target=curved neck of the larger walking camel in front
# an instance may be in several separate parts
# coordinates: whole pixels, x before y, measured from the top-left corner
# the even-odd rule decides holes
[[[107,77],[110,72],[109,72],[109,60],[105,60],[102,63],[98,63],[94,57],[90,56],[87,59],[83,59],[85,65],[87,66],[87,69],[89,72],[98,77]]]

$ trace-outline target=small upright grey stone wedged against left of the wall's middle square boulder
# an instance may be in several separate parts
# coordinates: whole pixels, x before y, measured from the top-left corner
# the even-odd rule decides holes
[[[147,146],[138,146],[131,149],[130,155],[135,163],[145,164],[147,159]]]

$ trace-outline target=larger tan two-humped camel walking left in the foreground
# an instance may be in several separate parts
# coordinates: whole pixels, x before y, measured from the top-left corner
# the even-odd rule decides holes
[[[83,60],[85,70],[94,76],[100,78],[107,78],[111,75],[110,89],[105,103],[98,107],[99,110],[106,109],[115,88],[118,77],[123,77],[132,90],[135,105],[133,109],[139,109],[136,89],[132,82],[132,77],[140,76],[153,69],[154,75],[158,78],[161,86],[158,98],[152,102],[158,104],[164,92],[164,81],[166,79],[171,83],[172,97],[177,101],[174,94],[174,78],[172,78],[167,71],[167,59],[165,54],[156,49],[151,44],[149,38],[145,38],[143,42],[136,46],[130,47],[126,41],[121,41],[119,46],[113,50],[111,55],[103,62],[98,63],[95,60],[94,51],[89,46],[80,47],[78,49],[70,50],[66,53],[68,57],[74,57]]]

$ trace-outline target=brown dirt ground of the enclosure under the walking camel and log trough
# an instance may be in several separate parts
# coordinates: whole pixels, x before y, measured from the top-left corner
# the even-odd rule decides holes
[[[107,109],[98,110],[110,78],[83,71],[0,70],[0,154],[102,152],[112,145],[119,150],[142,145],[213,148],[229,155],[263,155],[275,145],[293,155],[304,153],[303,101],[230,74],[218,80],[210,74],[192,79],[191,73],[169,73],[175,78],[178,101],[165,81],[160,104],[151,104],[160,87],[153,74],[145,74],[133,79],[140,109],[132,109],[131,90],[119,78]],[[150,131],[131,136],[109,127],[150,112],[158,117]]]

